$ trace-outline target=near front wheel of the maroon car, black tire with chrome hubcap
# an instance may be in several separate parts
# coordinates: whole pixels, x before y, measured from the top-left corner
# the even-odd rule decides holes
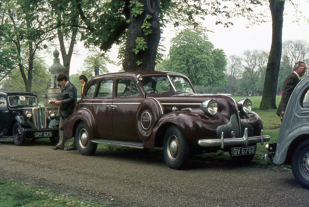
[[[177,126],[170,126],[165,132],[163,155],[169,168],[178,170],[187,167],[191,150],[186,137]]]

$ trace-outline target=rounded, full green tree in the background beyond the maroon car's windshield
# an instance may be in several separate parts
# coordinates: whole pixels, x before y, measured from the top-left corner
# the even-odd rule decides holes
[[[163,70],[188,76],[193,85],[217,86],[226,82],[223,50],[214,49],[201,31],[184,30],[171,39],[169,59]]]

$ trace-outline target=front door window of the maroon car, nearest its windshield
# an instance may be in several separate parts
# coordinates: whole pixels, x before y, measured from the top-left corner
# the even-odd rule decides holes
[[[132,97],[139,95],[139,90],[132,79],[119,79],[117,81],[116,97]]]

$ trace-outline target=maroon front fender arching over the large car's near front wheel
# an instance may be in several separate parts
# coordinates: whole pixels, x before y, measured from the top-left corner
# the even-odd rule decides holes
[[[209,117],[203,113],[192,113],[187,111],[180,111],[176,114],[164,114],[155,124],[150,139],[144,142],[147,148],[155,146],[156,139],[163,139],[164,131],[168,126],[176,125],[184,133],[190,144],[197,144],[201,138],[216,137],[216,130],[220,116]]]

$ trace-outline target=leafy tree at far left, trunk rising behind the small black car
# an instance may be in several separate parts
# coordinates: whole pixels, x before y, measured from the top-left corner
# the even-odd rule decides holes
[[[12,56],[16,59],[25,91],[30,92],[34,71],[35,54],[44,47],[43,42],[52,34],[48,18],[43,18],[47,8],[39,2],[2,1],[2,39],[5,44],[14,47]]]

